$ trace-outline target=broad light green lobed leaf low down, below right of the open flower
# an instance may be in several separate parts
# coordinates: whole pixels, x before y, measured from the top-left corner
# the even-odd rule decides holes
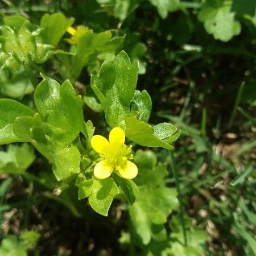
[[[175,189],[165,186],[164,177],[168,174],[166,167],[155,166],[154,160],[148,165],[144,161],[147,156],[148,152],[141,151],[135,156],[135,163],[139,168],[135,182],[140,185],[140,196],[129,207],[133,228],[144,245],[147,245],[151,238],[166,239],[164,224],[167,216],[179,205]],[[152,155],[149,158],[152,158]]]

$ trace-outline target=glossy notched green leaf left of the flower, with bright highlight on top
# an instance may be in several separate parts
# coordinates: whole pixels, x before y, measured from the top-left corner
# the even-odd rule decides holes
[[[71,143],[80,133],[84,121],[81,97],[76,95],[71,83],[66,80],[60,86],[44,76],[35,90],[34,100],[43,121],[52,126],[53,138]]]

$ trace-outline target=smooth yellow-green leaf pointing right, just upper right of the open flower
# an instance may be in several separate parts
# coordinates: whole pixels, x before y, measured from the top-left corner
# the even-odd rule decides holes
[[[163,147],[173,150],[174,147],[162,141],[154,134],[154,129],[148,123],[139,121],[136,117],[126,118],[126,136],[135,143],[147,147]]]

